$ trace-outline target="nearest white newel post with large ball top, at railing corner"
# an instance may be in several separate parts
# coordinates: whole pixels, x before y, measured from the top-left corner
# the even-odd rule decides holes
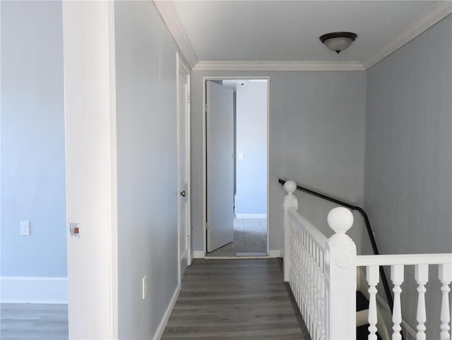
[[[353,214],[344,207],[328,214],[328,225],[335,231],[325,255],[327,339],[331,340],[356,339],[356,245],[345,233],[352,224]]]

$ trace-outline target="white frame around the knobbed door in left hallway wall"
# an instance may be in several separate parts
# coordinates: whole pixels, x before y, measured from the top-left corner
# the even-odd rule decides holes
[[[179,284],[182,280],[181,274],[181,242],[187,242],[187,267],[191,265],[191,261],[193,260],[192,247],[191,247],[191,190],[190,190],[190,130],[191,130],[191,112],[190,112],[190,68],[185,63],[184,59],[179,56],[179,52],[176,54],[177,59],[177,67],[176,67],[176,83],[177,83],[177,278]],[[187,178],[187,191],[188,197],[186,201],[186,209],[187,209],[187,218],[186,218],[186,240],[181,240],[180,237],[180,205],[179,205],[179,180],[180,180],[180,135],[179,135],[179,96],[180,96],[180,84],[179,84],[179,75],[183,71],[186,74],[186,178]]]

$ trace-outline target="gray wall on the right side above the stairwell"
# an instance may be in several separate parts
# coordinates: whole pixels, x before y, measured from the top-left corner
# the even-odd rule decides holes
[[[448,16],[367,71],[364,207],[383,254],[452,252],[451,34]],[[413,273],[402,300],[415,325]],[[430,274],[427,338],[439,339]]]

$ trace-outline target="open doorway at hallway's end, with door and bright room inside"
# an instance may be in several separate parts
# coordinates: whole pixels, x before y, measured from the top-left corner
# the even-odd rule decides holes
[[[206,257],[268,255],[268,78],[205,79]]]

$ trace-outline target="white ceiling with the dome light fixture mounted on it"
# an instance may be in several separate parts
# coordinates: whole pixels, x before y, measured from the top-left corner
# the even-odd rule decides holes
[[[451,1],[172,1],[172,14],[182,26],[188,40],[185,44],[194,49],[195,62],[357,61],[365,65],[410,25],[438,7],[439,2],[451,4]],[[162,17],[165,19],[165,13]],[[320,35],[337,31],[358,35],[352,46],[339,55],[326,49],[319,40]]]

